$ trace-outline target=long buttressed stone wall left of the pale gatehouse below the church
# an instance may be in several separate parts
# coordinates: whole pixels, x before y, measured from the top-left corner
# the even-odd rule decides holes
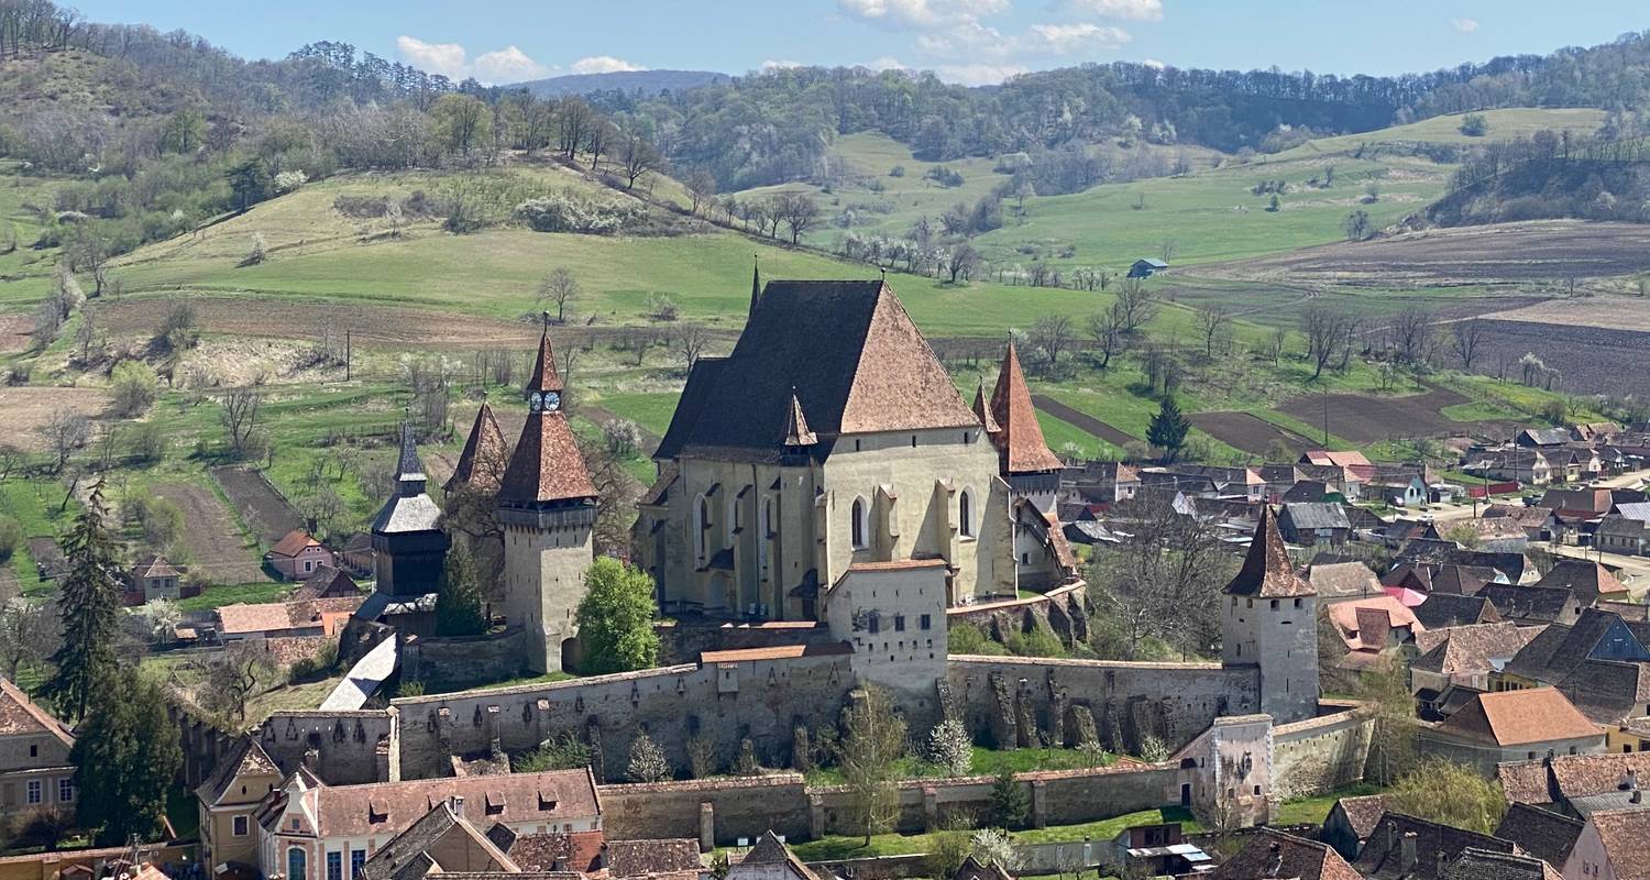
[[[393,707],[403,718],[408,778],[447,774],[449,755],[530,750],[573,733],[596,748],[602,781],[622,781],[644,730],[678,769],[688,766],[695,736],[710,740],[718,768],[733,763],[744,740],[762,766],[792,766],[795,726],[835,723],[851,687],[848,655],[832,652],[408,697]]]

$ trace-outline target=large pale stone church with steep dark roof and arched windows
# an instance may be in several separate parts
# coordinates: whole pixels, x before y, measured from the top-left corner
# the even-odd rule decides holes
[[[952,606],[1071,576],[1058,525],[1008,471],[1003,423],[1059,466],[1013,386],[1010,352],[1002,413],[970,409],[883,281],[752,292],[733,353],[693,365],[640,502],[634,553],[662,611],[822,619],[825,593],[873,563],[944,563]]]

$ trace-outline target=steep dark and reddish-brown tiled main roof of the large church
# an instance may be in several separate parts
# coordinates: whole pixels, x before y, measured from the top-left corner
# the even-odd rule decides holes
[[[884,282],[771,281],[733,353],[688,376],[657,457],[777,454],[792,388],[820,457],[840,434],[980,424]]]

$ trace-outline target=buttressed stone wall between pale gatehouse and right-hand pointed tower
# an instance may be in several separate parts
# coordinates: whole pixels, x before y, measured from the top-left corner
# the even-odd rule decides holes
[[[977,736],[998,746],[1077,745],[1091,718],[1101,745],[1138,751],[1157,736],[1170,751],[1223,715],[1259,712],[1254,669],[954,655],[949,700]]]

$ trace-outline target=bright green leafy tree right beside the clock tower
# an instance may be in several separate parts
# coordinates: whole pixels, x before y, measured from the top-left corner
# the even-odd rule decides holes
[[[653,632],[653,578],[642,570],[602,556],[584,575],[579,601],[581,672],[630,672],[658,660]]]

